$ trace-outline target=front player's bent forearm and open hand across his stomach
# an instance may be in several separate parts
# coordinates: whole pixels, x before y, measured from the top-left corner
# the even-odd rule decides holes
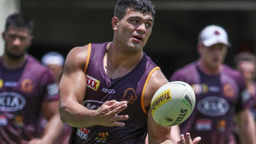
[[[89,110],[77,102],[70,101],[61,104],[59,111],[61,120],[74,127],[91,126],[124,126],[122,120],[127,120],[128,115],[118,115],[126,109],[127,102],[111,100],[104,102],[98,109]]]

